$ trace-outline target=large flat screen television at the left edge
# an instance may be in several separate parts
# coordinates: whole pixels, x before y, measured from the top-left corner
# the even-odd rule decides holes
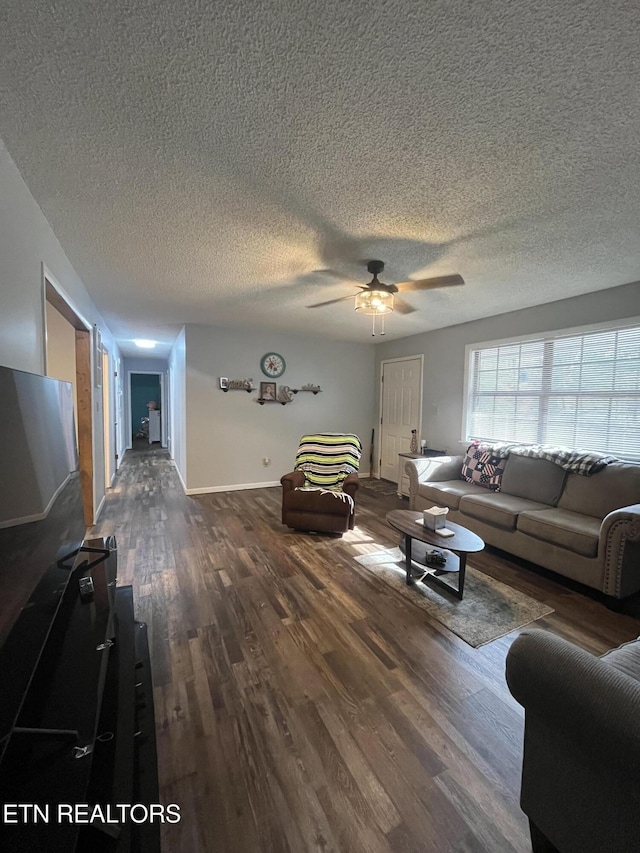
[[[70,383],[0,367],[0,756],[85,536]]]

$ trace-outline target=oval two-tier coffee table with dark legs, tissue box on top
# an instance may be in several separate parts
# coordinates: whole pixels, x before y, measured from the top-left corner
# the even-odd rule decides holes
[[[423,582],[435,584],[440,589],[446,589],[447,592],[453,593],[457,598],[462,599],[464,593],[464,573],[467,565],[467,554],[482,551],[484,542],[471,530],[467,530],[461,524],[455,524],[453,521],[447,522],[447,528],[453,530],[454,536],[439,536],[437,531],[429,530],[422,523],[422,513],[414,512],[409,509],[394,509],[387,513],[387,524],[404,534],[404,554],[407,566],[407,584],[412,584],[414,581],[412,566],[411,566],[411,541],[418,539],[427,545],[435,548],[442,548],[446,551],[451,551],[447,557],[445,568],[428,567],[425,565],[422,577],[418,578]],[[458,587],[453,584],[441,580],[435,572],[458,574]]]

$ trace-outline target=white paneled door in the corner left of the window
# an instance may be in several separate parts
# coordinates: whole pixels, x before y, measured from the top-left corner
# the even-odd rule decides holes
[[[398,482],[398,453],[406,453],[411,430],[418,431],[422,417],[422,358],[394,359],[382,363],[380,425],[380,476]]]

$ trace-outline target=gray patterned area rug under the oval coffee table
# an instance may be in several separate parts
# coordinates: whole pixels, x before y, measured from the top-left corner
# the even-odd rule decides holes
[[[431,619],[440,622],[474,648],[553,613],[552,607],[476,571],[469,561],[464,598],[459,601],[455,596],[437,592],[424,583],[407,586],[404,555],[399,548],[364,554],[355,559],[399,595],[424,610]],[[457,583],[457,578],[454,583]]]

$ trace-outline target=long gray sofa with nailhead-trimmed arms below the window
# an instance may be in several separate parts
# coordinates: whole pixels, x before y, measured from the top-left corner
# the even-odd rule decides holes
[[[409,508],[448,518],[510,554],[620,599],[640,590],[640,465],[591,476],[510,455],[500,491],[461,478],[464,456],[411,459]]]

